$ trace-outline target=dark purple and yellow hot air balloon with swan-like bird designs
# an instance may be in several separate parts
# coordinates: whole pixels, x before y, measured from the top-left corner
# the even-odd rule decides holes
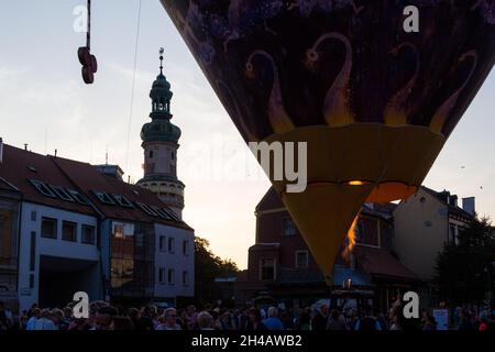
[[[272,182],[329,283],[362,205],[417,191],[495,61],[490,0],[162,3],[246,142],[307,142],[306,190]]]

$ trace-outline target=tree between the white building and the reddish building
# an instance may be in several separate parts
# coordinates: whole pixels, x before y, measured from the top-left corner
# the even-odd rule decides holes
[[[195,296],[199,304],[212,302],[219,297],[215,285],[217,277],[231,277],[238,272],[238,265],[231,260],[223,260],[210,251],[210,242],[195,238]]]

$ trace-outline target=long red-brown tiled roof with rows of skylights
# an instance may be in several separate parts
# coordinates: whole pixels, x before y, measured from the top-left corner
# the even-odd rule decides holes
[[[142,209],[139,204],[165,209],[168,213],[172,210],[155,194],[139,186],[127,184],[112,176],[103,175],[90,164],[62,157],[44,156],[10,145],[4,145],[3,154],[3,163],[0,164],[0,177],[18,187],[26,201],[110,219],[157,222],[193,230],[185,222],[174,220],[172,217],[164,219],[157,215],[147,213],[146,210],[148,208],[146,207],[146,210]],[[40,193],[30,179],[64,189],[77,190],[89,199],[90,205],[66,201],[57,197],[47,197]],[[113,200],[113,205],[105,204],[96,193],[105,193],[110,197],[113,197],[112,195],[123,196],[131,205],[121,206],[114,198],[110,199]]]

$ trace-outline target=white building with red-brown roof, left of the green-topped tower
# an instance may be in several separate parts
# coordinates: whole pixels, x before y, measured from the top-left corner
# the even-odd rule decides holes
[[[124,305],[194,296],[194,230],[155,194],[109,167],[2,148],[0,299],[13,310],[64,307],[76,292]],[[165,287],[163,270],[175,273]]]

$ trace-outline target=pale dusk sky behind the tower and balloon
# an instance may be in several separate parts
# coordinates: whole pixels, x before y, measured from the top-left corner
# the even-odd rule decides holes
[[[254,244],[254,208],[270,187],[158,0],[142,0],[131,92],[139,0],[96,0],[91,51],[99,63],[92,86],[80,77],[74,9],[84,0],[0,2],[0,136],[7,144],[92,164],[119,164],[142,177],[141,127],[151,121],[148,91],[165,47],[173,123],[183,131],[178,177],[186,184],[185,221],[213,252],[246,266]],[[476,210],[495,219],[495,72],[447,142],[425,185],[459,198],[476,197]],[[130,130],[129,130],[129,122]],[[128,148],[128,132],[129,148]],[[128,153],[129,150],[129,153]]]

